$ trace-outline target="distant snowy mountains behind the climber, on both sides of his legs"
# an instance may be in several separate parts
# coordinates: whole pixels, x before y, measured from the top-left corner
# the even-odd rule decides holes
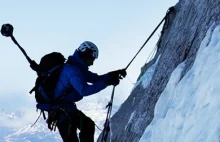
[[[82,102],[78,103],[78,109],[82,110],[87,116],[91,117],[96,125],[103,129],[103,124],[106,117],[106,108],[109,98],[92,96],[90,98],[85,98]],[[113,107],[113,113],[118,109],[118,106]],[[16,124],[16,122],[21,122],[27,120],[25,117],[25,112],[7,112],[4,109],[0,112],[0,122],[8,123],[8,125],[0,127],[0,141],[3,142],[61,142],[62,139],[58,133],[58,130],[51,132],[47,128],[47,124],[42,117],[38,122],[32,126],[34,121],[37,119],[39,112],[35,112],[32,108],[32,113],[35,117],[28,120],[25,125]],[[10,125],[11,123],[11,125]],[[14,125],[18,125],[15,127]],[[32,127],[31,127],[32,126]],[[98,138],[101,131],[96,128],[95,139]]]

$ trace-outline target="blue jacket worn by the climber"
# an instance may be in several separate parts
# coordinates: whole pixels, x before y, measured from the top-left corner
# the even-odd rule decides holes
[[[88,66],[79,57],[78,51],[75,51],[61,70],[55,88],[55,99],[63,96],[61,100],[67,103],[77,102],[84,96],[105,89],[108,86],[108,79],[108,74],[99,76],[90,72]]]

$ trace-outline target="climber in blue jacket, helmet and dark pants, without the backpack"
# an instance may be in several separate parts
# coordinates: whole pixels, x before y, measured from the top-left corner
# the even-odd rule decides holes
[[[109,85],[118,85],[120,79],[126,76],[125,69],[98,75],[88,70],[98,58],[97,46],[90,42],[83,42],[72,56],[69,56],[63,66],[55,88],[54,99],[59,98],[61,110],[54,118],[48,113],[48,128],[54,121],[64,142],[78,142],[77,128],[80,130],[80,142],[93,142],[95,123],[83,112],[77,109],[75,102],[85,96],[93,95]],[[90,84],[88,84],[90,83]],[[57,116],[57,115],[56,115]]]

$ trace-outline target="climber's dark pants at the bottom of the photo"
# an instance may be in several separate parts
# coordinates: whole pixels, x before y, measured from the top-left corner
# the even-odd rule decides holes
[[[57,127],[64,142],[79,142],[77,128],[80,142],[94,142],[95,123],[91,118],[79,110],[68,113],[69,118],[64,113],[60,115],[64,115],[64,119],[58,122]]]

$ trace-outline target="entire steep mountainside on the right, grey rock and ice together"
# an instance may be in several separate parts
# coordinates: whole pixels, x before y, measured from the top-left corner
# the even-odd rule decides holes
[[[108,141],[220,141],[220,1],[180,0]],[[98,141],[101,141],[101,136]]]

